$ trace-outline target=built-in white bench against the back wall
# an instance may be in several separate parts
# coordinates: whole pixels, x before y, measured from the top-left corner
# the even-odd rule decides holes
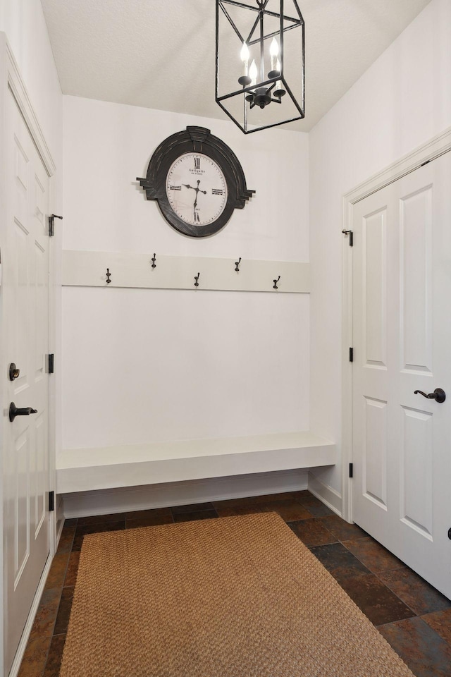
[[[66,449],[56,492],[138,487],[335,464],[335,444],[311,432]]]

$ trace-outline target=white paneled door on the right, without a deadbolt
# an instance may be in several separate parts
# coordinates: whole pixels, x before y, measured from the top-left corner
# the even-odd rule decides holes
[[[354,205],[353,520],[451,597],[451,153]],[[443,403],[414,394],[443,389]]]

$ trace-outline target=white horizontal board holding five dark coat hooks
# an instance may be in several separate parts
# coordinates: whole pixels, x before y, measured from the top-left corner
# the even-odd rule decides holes
[[[139,252],[63,251],[63,285],[309,293],[309,264],[244,259],[166,256]],[[110,282],[106,271],[109,270]],[[194,286],[199,275],[199,286]],[[277,281],[278,276],[280,279]],[[274,288],[276,282],[277,288]]]

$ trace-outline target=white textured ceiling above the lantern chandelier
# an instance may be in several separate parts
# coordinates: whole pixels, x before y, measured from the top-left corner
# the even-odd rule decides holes
[[[41,0],[64,94],[227,119],[214,0]],[[298,0],[310,130],[430,0]]]

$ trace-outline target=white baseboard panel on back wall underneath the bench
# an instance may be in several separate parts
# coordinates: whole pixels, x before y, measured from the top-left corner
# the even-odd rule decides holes
[[[168,508],[302,489],[307,489],[307,470],[304,469],[149,484],[144,487],[98,489],[64,494],[64,516],[88,517],[149,508]]]

